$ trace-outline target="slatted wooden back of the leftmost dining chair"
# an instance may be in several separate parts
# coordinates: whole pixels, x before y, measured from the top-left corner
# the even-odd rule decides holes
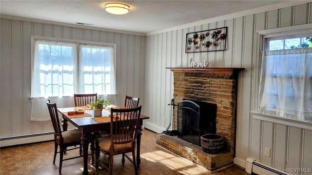
[[[54,136],[55,137],[59,136],[59,138],[62,138],[62,131],[60,130],[57,104],[51,104],[50,100],[47,100],[47,106],[49,109],[53,129],[54,129]]]

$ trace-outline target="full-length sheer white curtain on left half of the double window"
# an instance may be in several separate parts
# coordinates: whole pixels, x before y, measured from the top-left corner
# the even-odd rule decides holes
[[[31,120],[50,120],[47,99],[58,107],[73,105],[77,87],[76,44],[35,40],[31,82]]]

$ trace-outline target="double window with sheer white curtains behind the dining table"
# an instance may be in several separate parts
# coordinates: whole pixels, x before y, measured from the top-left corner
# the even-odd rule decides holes
[[[31,96],[115,94],[113,46],[34,39]]]

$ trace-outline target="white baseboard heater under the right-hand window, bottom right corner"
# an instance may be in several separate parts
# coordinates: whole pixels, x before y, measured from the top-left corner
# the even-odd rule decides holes
[[[257,162],[249,157],[246,160],[246,172],[249,174],[254,173],[257,175],[291,175],[263,163]]]

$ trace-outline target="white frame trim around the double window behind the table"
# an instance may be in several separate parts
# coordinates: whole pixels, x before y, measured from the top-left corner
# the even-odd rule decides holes
[[[56,42],[69,42],[69,43],[76,43],[77,44],[77,55],[79,55],[79,44],[86,44],[86,45],[97,45],[97,46],[108,46],[113,47],[113,66],[114,66],[114,77],[116,81],[116,53],[117,53],[117,44],[116,43],[103,43],[103,42],[95,42],[95,41],[85,41],[85,40],[75,40],[75,39],[65,39],[65,38],[53,38],[53,37],[45,37],[45,36],[31,36],[31,74],[34,70],[34,48],[35,48],[35,40],[47,40],[47,41],[56,41]],[[79,61],[79,57],[77,58],[77,62]],[[77,70],[76,79],[79,79],[79,69]],[[31,76],[32,81],[32,76]],[[78,93],[78,92],[77,92]],[[112,95],[116,95],[116,87],[115,87],[115,93]],[[38,97],[30,97],[32,98],[38,98]]]

